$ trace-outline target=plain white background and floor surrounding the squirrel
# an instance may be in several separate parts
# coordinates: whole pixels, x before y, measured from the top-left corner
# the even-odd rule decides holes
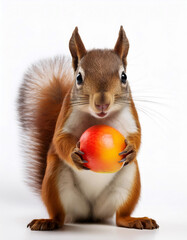
[[[0,237],[2,239],[186,239],[187,1],[0,1]],[[127,75],[142,125],[142,194],[134,216],[160,229],[68,225],[26,229],[47,212],[24,184],[16,98],[33,62],[69,55],[75,26],[87,49],[113,48],[120,25],[130,41]],[[154,102],[154,103],[153,103]],[[141,110],[141,111],[140,111]]]

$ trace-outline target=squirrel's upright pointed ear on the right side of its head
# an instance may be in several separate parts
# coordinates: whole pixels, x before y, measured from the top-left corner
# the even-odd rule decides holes
[[[123,29],[123,26],[120,27],[119,36],[114,47],[114,52],[122,59],[122,61],[126,62],[126,57],[129,50],[129,41]]]

